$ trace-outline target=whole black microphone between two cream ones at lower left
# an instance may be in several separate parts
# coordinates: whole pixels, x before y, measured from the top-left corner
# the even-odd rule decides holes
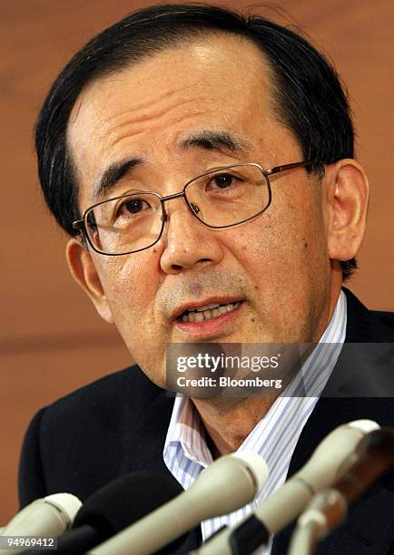
[[[84,501],[75,517],[73,531],[57,540],[56,553],[84,553],[181,492],[182,486],[171,474],[124,474]],[[175,545],[172,549],[178,547]],[[27,553],[47,555],[47,550]]]

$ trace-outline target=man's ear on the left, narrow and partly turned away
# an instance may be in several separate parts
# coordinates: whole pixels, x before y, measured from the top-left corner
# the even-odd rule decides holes
[[[81,241],[78,239],[70,239],[68,241],[65,248],[65,258],[76,283],[90,297],[99,315],[108,324],[113,324],[111,308],[103,291],[94,261]]]

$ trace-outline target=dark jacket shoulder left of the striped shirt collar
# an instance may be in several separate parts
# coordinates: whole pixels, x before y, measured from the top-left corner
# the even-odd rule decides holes
[[[54,492],[84,500],[123,473],[162,472],[172,402],[131,366],[41,409],[22,448],[21,505]]]

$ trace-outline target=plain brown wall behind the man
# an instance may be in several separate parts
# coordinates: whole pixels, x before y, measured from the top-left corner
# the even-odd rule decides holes
[[[0,526],[17,511],[16,474],[26,426],[44,404],[132,362],[112,326],[69,276],[66,238],[39,192],[34,120],[69,58],[133,9],[130,0],[0,3],[1,336]],[[251,3],[217,2],[238,9]],[[350,91],[358,159],[369,175],[369,228],[349,284],[371,308],[392,310],[393,4],[389,0],[278,0],[254,11],[298,25],[334,60]],[[284,10],[284,13],[279,13]],[[54,445],[55,448],[55,445]]]

